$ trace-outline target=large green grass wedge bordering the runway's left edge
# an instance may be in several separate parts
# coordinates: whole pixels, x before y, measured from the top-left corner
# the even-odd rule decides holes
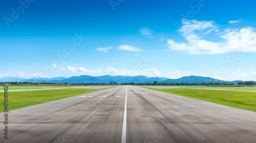
[[[100,91],[103,89],[59,89],[43,91],[8,92],[8,110],[14,110],[31,105],[50,102],[58,99],[81,95],[85,93]],[[3,93],[4,94],[4,93]],[[4,96],[0,97],[0,112],[4,111]]]

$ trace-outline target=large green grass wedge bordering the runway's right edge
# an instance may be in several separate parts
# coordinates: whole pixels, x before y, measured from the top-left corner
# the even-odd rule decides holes
[[[147,87],[143,88],[256,112],[256,92],[218,91],[201,89],[154,89]]]

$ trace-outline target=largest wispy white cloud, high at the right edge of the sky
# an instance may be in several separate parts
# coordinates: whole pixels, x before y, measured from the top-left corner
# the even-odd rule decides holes
[[[219,54],[228,52],[256,52],[256,33],[252,27],[241,29],[226,29],[219,32],[215,21],[198,21],[182,19],[183,26],[179,32],[186,42],[176,42],[167,39],[170,51],[180,51],[188,54]],[[215,32],[215,34],[211,34]],[[220,35],[221,42],[204,40],[203,37],[211,34],[211,37]]]

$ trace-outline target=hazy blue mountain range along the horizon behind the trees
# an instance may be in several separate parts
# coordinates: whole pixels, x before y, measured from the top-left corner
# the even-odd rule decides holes
[[[47,78],[47,77],[33,77],[30,79],[25,78],[17,78],[13,76],[7,76],[0,79],[0,82],[53,82],[53,83],[110,83],[111,81],[116,82],[118,84],[121,83],[153,83],[154,81],[157,82],[167,82],[167,83],[203,83],[203,82],[233,82],[238,83],[241,80],[234,80],[234,81],[225,81],[214,79],[211,77],[202,77],[202,76],[184,76],[178,79],[169,79],[165,77],[147,77],[143,75],[139,76],[111,76],[111,75],[103,75],[103,76],[90,76],[90,75],[81,75],[81,76],[72,76],[69,78],[66,77],[54,77],[54,78]]]

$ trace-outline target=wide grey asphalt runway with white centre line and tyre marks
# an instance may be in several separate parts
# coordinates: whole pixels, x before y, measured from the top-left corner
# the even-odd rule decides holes
[[[0,142],[256,142],[256,112],[135,86],[12,110],[8,139],[4,126]]]

